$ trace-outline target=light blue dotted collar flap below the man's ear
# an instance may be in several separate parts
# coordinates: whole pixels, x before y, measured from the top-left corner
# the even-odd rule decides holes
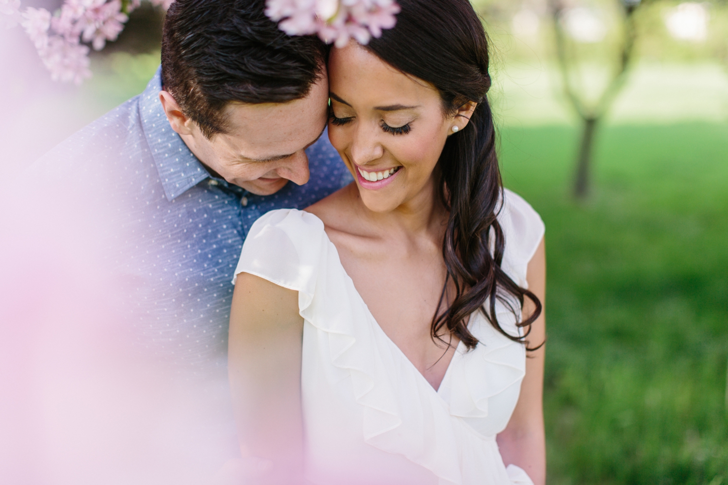
[[[157,165],[159,179],[162,181],[167,200],[171,202],[190,187],[205,180],[210,174],[187,148],[180,135],[170,127],[162,103],[159,102],[161,90],[160,67],[141,94],[139,111],[144,135],[149,143],[154,163]]]

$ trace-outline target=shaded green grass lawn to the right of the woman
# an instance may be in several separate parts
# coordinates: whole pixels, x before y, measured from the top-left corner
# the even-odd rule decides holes
[[[505,185],[547,227],[549,483],[728,484],[728,125],[502,130]]]

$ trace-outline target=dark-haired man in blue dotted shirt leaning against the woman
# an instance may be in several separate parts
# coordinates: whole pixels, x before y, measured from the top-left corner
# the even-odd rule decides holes
[[[350,181],[321,136],[328,117],[327,47],[312,36],[286,36],[264,7],[264,0],[175,1],[165,19],[162,66],[146,90],[68,138],[25,175],[31,192],[43,194],[42,221],[31,225],[51,236],[48,251],[60,255],[63,246],[82,253],[74,256],[72,272],[93,267],[79,278],[83,291],[71,291],[63,277],[41,269],[46,283],[66,287],[53,301],[73,301],[73,315],[101,302],[103,309],[92,315],[104,317],[86,318],[77,334],[114,320],[121,339],[136,342],[132,352],[124,347],[122,357],[114,354],[110,371],[98,371],[114,398],[99,398],[97,377],[79,381],[85,377],[77,371],[49,379],[63,389],[85,382],[68,396],[90,393],[101,403],[90,406],[91,414],[115,413],[75,445],[58,446],[64,453],[101,450],[106,465],[89,475],[90,483],[124,460],[137,470],[142,455],[149,460],[146,471],[125,470],[129,483],[199,483],[236,456],[226,346],[242,242],[266,211],[305,208]],[[52,259],[68,260],[65,254]],[[89,296],[89,288],[98,295]],[[84,345],[70,352],[92,347]],[[48,367],[65,366],[68,351]],[[146,368],[127,366],[130,355],[154,367],[151,377]],[[94,359],[84,356],[90,366],[97,365]],[[126,382],[127,375],[134,378]],[[53,419],[85,429],[85,416],[68,416]],[[111,429],[111,420],[123,424],[99,431]],[[121,451],[104,451],[114,449],[112,441]],[[131,452],[134,446],[143,452]],[[80,454],[56,461],[73,468]]]

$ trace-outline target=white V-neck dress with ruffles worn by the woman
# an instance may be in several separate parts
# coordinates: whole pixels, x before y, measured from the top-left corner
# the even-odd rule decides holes
[[[526,287],[526,265],[544,233],[531,206],[505,191],[498,217],[502,268]],[[301,389],[306,476],[317,485],[532,484],[503,464],[495,441],[513,413],[525,374],[523,344],[479,312],[435,390],[384,334],[339,261],[323,222],[272,210],[248,233],[235,275],[247,272],[298,291],[304,318]],[[518,334],[502,304],[498,321]]]

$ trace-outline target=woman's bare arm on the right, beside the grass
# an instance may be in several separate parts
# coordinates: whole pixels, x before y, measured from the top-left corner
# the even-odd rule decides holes
[[[536,347],[546,338],[546,251],[541,240],[534,257],[529,261],[526,280],[531,290],[544,305],[539,318],[531,327],[529,347]],[[534,306],[529,299],[524,304],[524,315]],[[546,483],[546,443],[543,418],[543,376],[545,346],[528,352],[526,376],[521,384],[521,395],[507,427],[497,437],[503,462],[518,465],[526,470],[535,485]]]

